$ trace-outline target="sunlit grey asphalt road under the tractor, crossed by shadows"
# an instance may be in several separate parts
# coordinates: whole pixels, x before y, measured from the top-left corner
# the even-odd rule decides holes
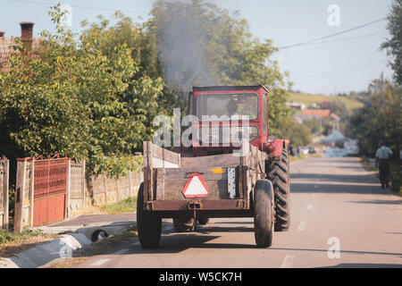
[[[357,158],[297,161],[290,182],[291,226],[271,248],[255,248],[252,218],[214,219],[189,234],[168,221],[160,248],[126,240],[72,267],[402,267],[402,201]]]

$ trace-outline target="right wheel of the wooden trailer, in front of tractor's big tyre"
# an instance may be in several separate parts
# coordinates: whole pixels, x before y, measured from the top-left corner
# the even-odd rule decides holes
[[[271,181],[258,180],[254,190],[254,233],[259,248],[272,245],[273,189]]]

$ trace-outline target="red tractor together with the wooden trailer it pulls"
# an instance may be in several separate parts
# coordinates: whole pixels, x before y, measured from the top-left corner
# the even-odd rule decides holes
[[[254,217],[259,247],[271,246],[273,231],[289,229],[288,141],[269,134],[268,92],[195,87],[190,146],[172,152],[144,142],[137,212],[143,248],[158,246],[162,218],[172,218],[176,231],[195,231],[210,217]]]

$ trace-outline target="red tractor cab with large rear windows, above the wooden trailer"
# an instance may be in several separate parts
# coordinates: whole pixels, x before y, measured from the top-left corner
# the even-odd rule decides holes
[[[264,86],[194,87],[188,95],[195,156],[230,153],[242,139],[268,150],[268,89]]]

